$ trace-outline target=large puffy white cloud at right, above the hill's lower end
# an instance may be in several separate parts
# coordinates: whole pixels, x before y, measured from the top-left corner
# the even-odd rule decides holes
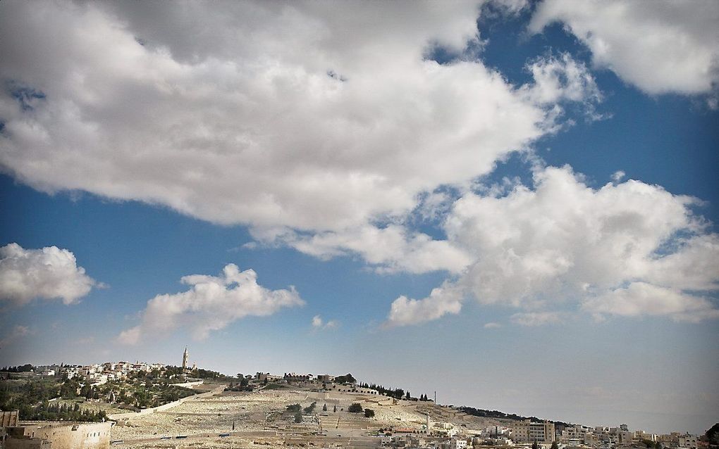
[[[413,324],[457,313],[466,297],[524,310],[511,318],[521,325],[557,322],[557,307],[717,318],[701,292],[719,290],[719,235],[692,212],[697,204],[636,180],[594,189],[569,167],[537,168],[532,188],[467,193],[444,230],[474,260],[429,297],[395,300],[389,320]]]

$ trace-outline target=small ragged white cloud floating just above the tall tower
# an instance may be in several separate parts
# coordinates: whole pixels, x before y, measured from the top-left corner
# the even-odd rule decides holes
[[[167,335],[177,328],[194,338],[206,338],[247,316],[267,316],[285,307],[304,305],[294,287],[268,290],[257,284],[257,274],[227,264],[219,276],[193,274],[181,279],[190,290],[157,295],[147,302],[141,323],[120,333],[121,343],[136,344],[152,335]]]

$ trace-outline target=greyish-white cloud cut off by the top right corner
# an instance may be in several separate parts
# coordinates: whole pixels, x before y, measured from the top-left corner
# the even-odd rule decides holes
[[[562,22],[608,68],[647,93],[710,93],[719,81],[716,1],[545,0],[529,29]]]

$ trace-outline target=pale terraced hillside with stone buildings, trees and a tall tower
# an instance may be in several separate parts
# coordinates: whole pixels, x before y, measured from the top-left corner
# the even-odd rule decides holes
[[[57,382],[60,393],[66,384],[77,387],[74,399],[46,398],[34,408],[2,412],[0,448],[6,449],[701,449],[712,443],[685,432],[656,435],[625,424],[591,427],[435,404],[426,394],[411,397],[402,389],[358,382],[352,374],[224,376],[190,366],[187,350],[182,366],[124,361],[24,366],[1,376],[4,389],[9,382],[32,383],[34,379]],[[168,389],[175,394],[166,394]],[[36,416],[28,414],[38,407],[64,410],[60,404],[71,404],[66,409],[75,412],[104,411],[84,420],[96,422],[70,419],[77,413],[56,421],[28,419]]]

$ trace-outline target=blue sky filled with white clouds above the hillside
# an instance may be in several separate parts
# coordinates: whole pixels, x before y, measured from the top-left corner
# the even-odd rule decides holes
[[[0,365],[719,419],[719,3],[0,2]]]

